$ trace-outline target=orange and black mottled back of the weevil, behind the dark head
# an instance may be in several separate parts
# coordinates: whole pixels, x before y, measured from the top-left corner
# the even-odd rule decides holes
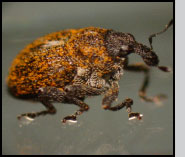
[[[104,38],[107,29],[88,27],[55,32],[38,38],[15,58],[8,86],[16,96],[36,94],[40,87],[63,88],[73,80],[77,67],[94,67],[99,75],[113,64]],[[104,71],[103,71],[104,69]]]

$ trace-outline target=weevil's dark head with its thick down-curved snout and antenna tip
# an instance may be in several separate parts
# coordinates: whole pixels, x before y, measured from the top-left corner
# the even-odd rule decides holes
[[[158,66],[159,59],[155,52],[151,48],[136,42],[130,33],[110,31],[105,40],[107,51],[113,58],[124,58],[130,53],[136,53],[143,58],[148,66],[156,66],[162,71],[169,71],[167,67]]]

